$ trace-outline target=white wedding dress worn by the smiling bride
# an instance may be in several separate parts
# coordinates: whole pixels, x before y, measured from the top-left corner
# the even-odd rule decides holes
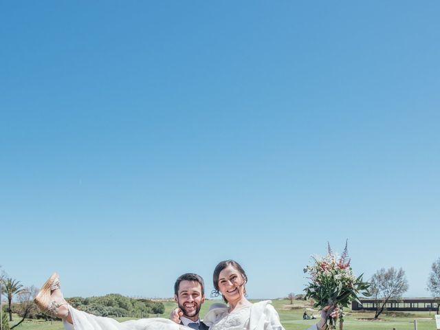
[[[270,300],[261,301],[241,309],[228,312],[228,307],[210,309],[203,322],[210,330],[284,330],[280,318]],[[118,322],[113,318],[102,318],[78,311],[69,306],[74,325],[64,321],[66,330],[188,330],[166,318],[141,318]],[[192,330],[192,329],[191,329]],[[316,330],[316,325],[307,330]]]

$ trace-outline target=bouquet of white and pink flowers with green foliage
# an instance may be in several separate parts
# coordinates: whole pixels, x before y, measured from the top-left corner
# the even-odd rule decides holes
[[[306,298],[315,300],[314,307],[323,308],[327,305],[339,307],[342,329],[342,322],[344,322],[342,308],[349,307],[352,300],[359,301],[358,294],[371,296],[368,290],[370,283],[362,281],[363,274],[358,277],[353,275],[350,266],[351,259],[347,252],[347,241],[340,257],[331,251],[330,244],[327,246],[327,256],[323,258],[312,256],[314,262],[305,267],[304,272],[308,275],[310,282],[304,291]],[[331,310],[327,311],[327,315],[330,313]],[[336,322],[330,316],[327,318],[327,327],[336,329]]]

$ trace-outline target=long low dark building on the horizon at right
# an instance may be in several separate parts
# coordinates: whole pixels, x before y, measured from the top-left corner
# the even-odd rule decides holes
[[[380,300],[379,300],[380,301]],[[390,299],[385,304],[387,311],[435,311],[437,310],[438,299],[435,298],[401,298]],[[375,311],[376,303],[371,298],[361,298],[360,303],[351,303],[353,311]]]

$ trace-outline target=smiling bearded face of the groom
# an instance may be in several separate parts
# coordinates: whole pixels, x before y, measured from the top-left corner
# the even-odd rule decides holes
[[[205,296],[201,294],[199,282],[181,281],[177,295],[174,295],[174,300],[186,318],[196,321],[199,318],[201,304],[205,302]]]

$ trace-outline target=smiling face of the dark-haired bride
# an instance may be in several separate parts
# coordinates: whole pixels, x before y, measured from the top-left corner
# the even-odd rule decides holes
[[[231,265],[225,267],[219,274],[219,291],[225,296],[228,303],[243,298],[244,284],[245,281],[241,273]]]

